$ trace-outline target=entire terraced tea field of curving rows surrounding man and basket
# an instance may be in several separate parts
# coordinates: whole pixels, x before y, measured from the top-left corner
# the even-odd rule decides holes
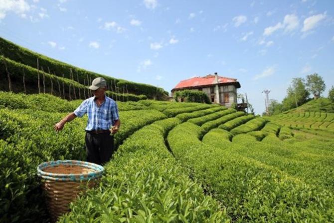
[[[84,159],[86,118],[52,129],[80,102],[0,93],[1,222],[47,221],[36,166]],[[59,222],[334,221],[332,132],[218,105],[118,105],[115,156]]]

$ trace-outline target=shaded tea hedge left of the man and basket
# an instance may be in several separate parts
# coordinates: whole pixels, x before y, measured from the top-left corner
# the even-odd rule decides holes
[[[53,130],[65,113],[0,109],[0,222],[46,222],[36,167],[45,161],[85,159],[85,121]]]

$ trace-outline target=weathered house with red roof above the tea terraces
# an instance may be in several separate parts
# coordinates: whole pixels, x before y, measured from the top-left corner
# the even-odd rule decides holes
[[[207,94],[212,103],[219,103],[226,107],[231,107],[232,103],[237,103],[237,88],[240,83],[235,78],[218,76],[217,73],[208,74],[204,77],[193,77],[181,80],[172,90],[171,96],[176,91],[199,90]]]

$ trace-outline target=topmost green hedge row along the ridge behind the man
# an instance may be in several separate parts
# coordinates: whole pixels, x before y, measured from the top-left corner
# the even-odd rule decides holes
[[[125,92],[129,92],[131,94],[141,95],[144,94],[148,98],[156,98],[161,99],[168,95],[168,92],[166,92],[163,88],[155,87],[148,84],[142,84],[142,83],[134,83],[126,80],[116,79],[110,76],[98,74],[95,72],[87,71],[63,62],[60,62],[58,60],[49,58],[47,56],[41,55],[39,53],[35,53],[29,49],[23,48],[21,46],[18,46],[6,39],[3,39],[0,37],[0,54],[4,57],[9,58],[10,60],[16,61],[20,64],[25,64],[32,68],[37,68],[37,58],[39,60],[39,67],[43,67],[44,71],[49,67],[50,71],[54,73],[55,75],[62,77],[64,74],[64,77],[67,79],[72,79],[70,74],[70,69],[72,69],[72,73],[74,76],[74,80],[77,81],[79,84],[84,84],[84,80],[86,81],[86,85],[88,85],[87,82],[91,82],[96,77],[103,77],[107,80],[108,85],[111,86],[110,89],[114,89],[115,91],[115,84],[118,88],[118,93],[122,93],[123,90]],[[14,71],[10,71],[14,72]],[[20,71],[21,72],[21,71]],[[78,79],[77,79],[78,75]],[[89,81],[87,80],[89,78]]]

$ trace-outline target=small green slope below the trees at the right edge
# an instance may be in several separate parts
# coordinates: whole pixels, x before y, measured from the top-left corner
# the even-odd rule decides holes
[[[285,111],[283,114],[305,111],[334,113],[334,103],[328,98],[313,99],[298,108]]]

